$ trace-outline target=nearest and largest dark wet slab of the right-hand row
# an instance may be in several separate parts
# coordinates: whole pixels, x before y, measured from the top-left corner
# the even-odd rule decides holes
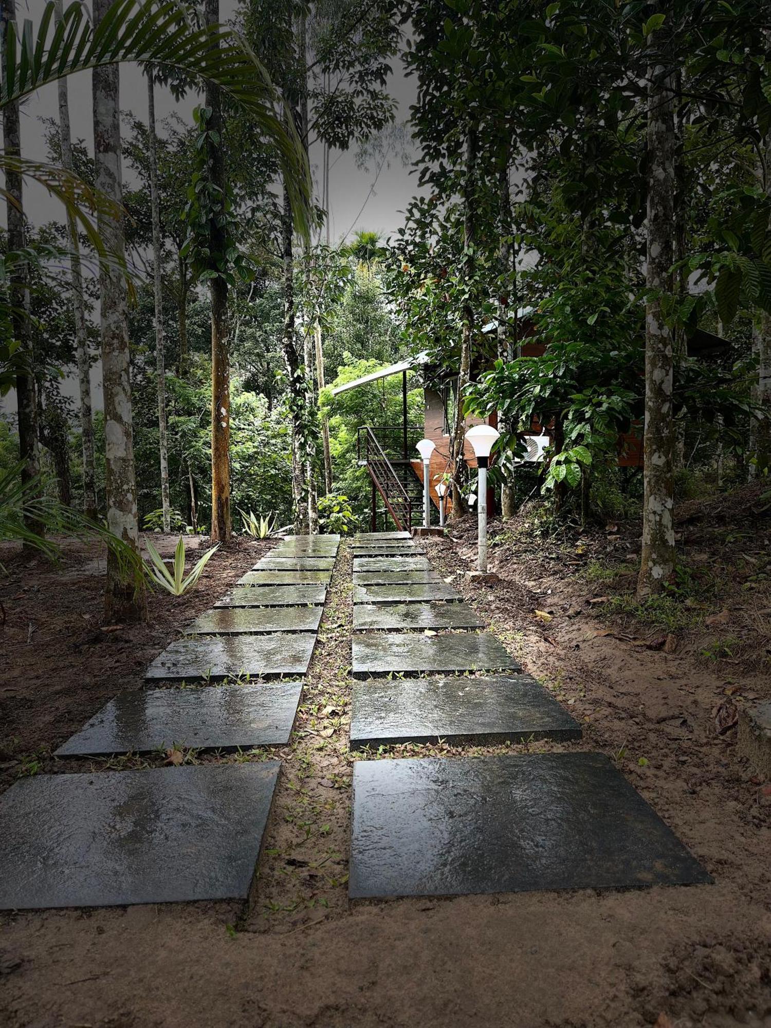
[[[709,881],[602,754],[354,764],[352,897]]]

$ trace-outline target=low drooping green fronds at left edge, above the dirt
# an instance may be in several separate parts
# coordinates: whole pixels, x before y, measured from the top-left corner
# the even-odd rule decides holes
[[[22,481],[23,467],[20,462],[0,473],[0,542],[22,543],[56,560],[61,546],[51,536],[98,539],[117,558],[126,581],[141,581],[142,560],[128,543],[47,494],[46,488],[51,482],[45,475],[35,475]],[[28,528],[29,521],[43,525],[45,538]],[[5,573],[1,563],[0,572]]]

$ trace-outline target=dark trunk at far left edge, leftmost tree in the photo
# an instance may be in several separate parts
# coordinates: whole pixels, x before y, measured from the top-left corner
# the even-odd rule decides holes
[[[12,32],[10,23],[16,19],[14,0],[2,0],[3,45],[5,32]],[[6,156],[21,156],[22,131],[19,101],[3,108],[3,145]],[[5,173],[6,217],[8,250],[21,251],[25,247],[24,195],[22,176],[17,172]],[[22,481],[29,482],[40,471],[38,445],[37,390],[35,386],[34,358],[29,319],[29,282],[25,264],[16,264],[8,282],[8,296],[12,306],[11,327],[13,337],[24,355],[24,369],[16,373],[16,406],[19,425],[19,455],[22,461]],[[43,525],[34,518],[25,518],[25,524],[38,536]]]

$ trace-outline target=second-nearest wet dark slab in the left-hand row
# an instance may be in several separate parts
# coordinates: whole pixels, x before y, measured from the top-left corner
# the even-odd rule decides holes
[[[201,749],[285,745],[301,693],[301,682],[122,693],[54,756],[143,754],[174,743]]]

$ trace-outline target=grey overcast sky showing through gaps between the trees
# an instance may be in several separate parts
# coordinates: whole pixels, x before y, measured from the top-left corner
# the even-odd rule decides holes
[[[67,3],[68,0],[65,0]],[[221,0],[223,20],[230,16],[234,9],[233,0]],[[16,0],[16,16],[19,21],[30,17],[38,25],[44,7],[44,0]],[[94,152],[94,123],[91,111],[91,76],[90,72],[71,76],[68,79],[70,100],[70,120],[73,140],[84,140],[88,150]],[[397,119],[405,121],[409,113],[409,105],[413,99],[413,80],[406,79],[398,60],[394,62],[394,76],[390,84],[393,96],[399,103]],[[192,123],[191,112],[197,100],[194,97],[177,104],[171,95],[158,86],[155,93],[155,117],[159,123],[166,115],[177,111]],[[123,111],[131,110],[137,117],[147,118],[147,86],[139,68],[132,65],[120,67],[120,107]],[[22,149],[25,156],[45,160],[47,154],[43,142],[41,119],[52,117],[58,120],[58,96],[56,84],[38,90],[22,110]],[[321,151],[311,149],[310,161],[314,172],[321,160]],[[379,231],[388,235],[403,222],[402,213],[415,191],[415,176],[404,167],[398,155],[394,155],[381,169],[375,181],[376,168],[369,171],[357,167],[356,154],[333,152],[331,154],[332,170],[330,173],[330,225],[333,242],[341,241],[358,228]],[[124,167],[124,174],[130,172]],[[46,221],[63,220],[62,209],[34,183],[26,185],[25,210],[34,224]],[[0,205],[2,222],[5,222],[5,205]],[[101,370],[97,366],[91,373],[91,387],[95,393],[95,405],[101,405]],[[68,383],[68,393],[72,393],[72,384]],[[6,412],[14,412],[15,402],[9,394],[2,403]]]

